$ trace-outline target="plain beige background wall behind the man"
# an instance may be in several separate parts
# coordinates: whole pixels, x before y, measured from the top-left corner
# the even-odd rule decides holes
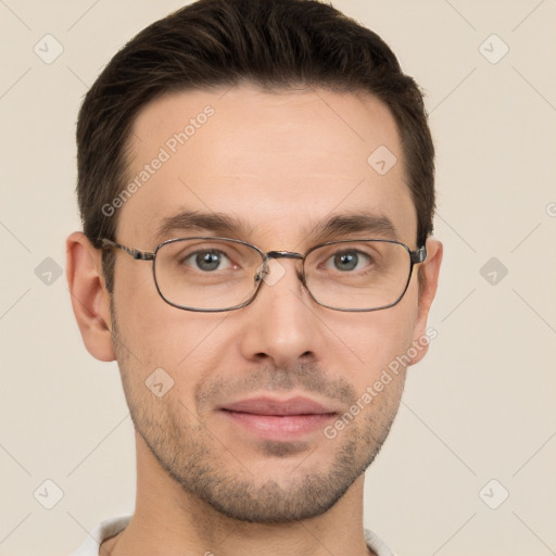
[[[63,267],[79,227],[84,93],[128,38],[181,4],[0,1],[2,556],[68,554],[134,507],[117,367],[83,348],[64,276],[46,285],[35,269],[47,257]],[[366,526],[400,555],[556,554],[556,2],[333,4],[381,35],[427,90],[445,244],[439,336],[367,473]],[[34,52],[47,34],[64,49],[51,64]],[[492,34],[509,48],[497,63]],[[508,271],[493,267],[494,285],[480,273],[491,257]],[[47,479],[63,491],[52,509],[34,497]],[[491,509],[483,500],[495,505],[503,489],[509,497]]]

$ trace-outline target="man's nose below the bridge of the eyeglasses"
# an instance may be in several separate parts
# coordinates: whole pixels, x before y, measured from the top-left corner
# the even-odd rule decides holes
[[[268,261],[257,296],[242,309],[245,358],[271,362],[279,368],[321,358],[326,327],[320,307],[302,283],[300,267],[300,261],[292,258]]]

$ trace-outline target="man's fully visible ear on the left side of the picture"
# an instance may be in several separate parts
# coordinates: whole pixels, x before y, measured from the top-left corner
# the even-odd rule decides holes
[[[80,231],[66,240],[66,274],[74,315],[87,351],[97,359],[114,361],[102,254]]]

